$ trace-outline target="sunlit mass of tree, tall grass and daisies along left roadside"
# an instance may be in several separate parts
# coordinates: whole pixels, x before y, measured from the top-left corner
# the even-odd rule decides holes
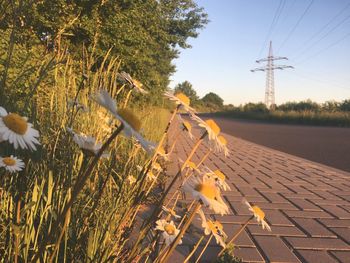
[[[193,1],[18,0],[0,10],[1,262],[167,262],[195,217],[203,229],[186,262],[213,238],[218,262],[240,262],[234,241],[248,223],[270,230],[247,200],[251,217],[233,237],[203,212],[229,211],[226,176],[203,163],[229,154],[227,141],[166,88],[178,48],[207,22]],[[179,135],[194,144],[174,175]],[[184,192],[191,203],[180,206]]]

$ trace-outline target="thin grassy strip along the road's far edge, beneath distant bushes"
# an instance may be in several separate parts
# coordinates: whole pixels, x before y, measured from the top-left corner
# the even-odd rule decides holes
[[[272,111],[263,113],[227,111],[219,112],[217,116],[284,124],[350,127],[350,112]]]

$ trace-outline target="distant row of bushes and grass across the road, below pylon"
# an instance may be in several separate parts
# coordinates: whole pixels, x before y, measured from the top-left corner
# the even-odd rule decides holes
[[[181,91],[191,97],[193,105],[200,113],[274,123],[350,127],[350,99],[341,102],[327,101],[321,104],[311,100],[286,102],[275,105],[272,110],[268,109],[264,103],[224,105],[224,100],[213,92],[199,98],[188,81],[175,86],[175,91]]]

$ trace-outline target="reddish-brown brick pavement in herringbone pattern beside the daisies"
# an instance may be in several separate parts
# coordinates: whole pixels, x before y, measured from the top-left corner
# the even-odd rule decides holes
[[[212,154],[205,164],[225,173],[232,189],[223,192],[230,214],[205,213],[219,220],[232,237],[250,216],[242,203],[246,198],[265,211],[272,228],[267,232],[252,221],[235,242],[236,256],[244,262],[350,262],[350,173],[225,137],[230,156]],[[173,154],[184,160],[192,145],[187,136],[181,136]],[[202,145],[192,161],[198,162],[207,151]],[[170,174],[177,166],[169,165]],[[193,225],[169,262],[183,262],[191,251],[195,243],[191,233],[200,228],[200,221]],[[212,241],[201,262],[215,259],[219,250]]]

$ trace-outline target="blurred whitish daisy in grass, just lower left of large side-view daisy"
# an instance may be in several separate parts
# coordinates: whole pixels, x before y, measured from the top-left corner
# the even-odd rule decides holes
[[[96,142],[96,139],[92,136],[85,134],[77,134],[71,128],[67,128],[67,131],[73,135],[73,141],[78,144],[79,148],[84,151],[87,155],[97,155],[101,150],[102,143]],[[103,153],[102,158],[109,157],[109,153]]]

